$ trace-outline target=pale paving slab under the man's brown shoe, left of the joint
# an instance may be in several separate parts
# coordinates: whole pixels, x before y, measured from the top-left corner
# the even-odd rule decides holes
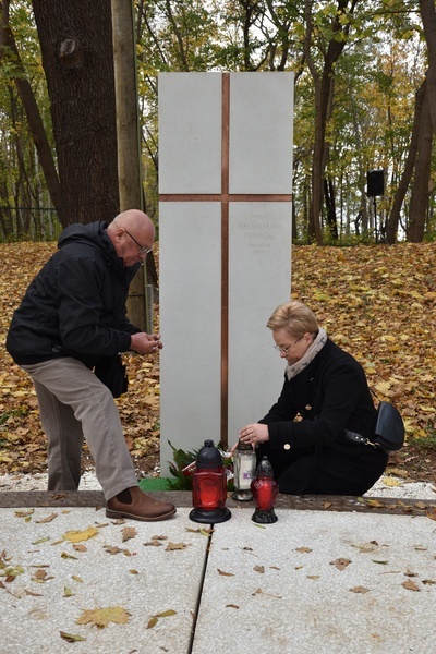
[[[209,543],[187,516],[182,508],[168,521],[120,524],[95,508],[0,509],[0,654],[187,652]],[[96,535],[76,547],[63,537],[89,526]],[[135,532],[123,541],[125,528]],[[76,622],[114,606],[126,623]],[[149,627],[166,611],[174,614]]]

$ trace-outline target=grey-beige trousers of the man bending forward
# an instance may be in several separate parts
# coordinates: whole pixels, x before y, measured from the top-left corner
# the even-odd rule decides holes
[[[84,437],[106,499],[137,486],[112,393],[95,374],[70,356],[21,367],[32,376],[48,438],[48,489],[77,489]]]

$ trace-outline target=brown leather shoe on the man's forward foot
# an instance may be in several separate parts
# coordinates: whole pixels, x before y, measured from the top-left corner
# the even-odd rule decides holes
[[[107,518],[131,518],[143,522],[167,520],[174,513],[174,505],[152,499],[138,486],[132,486],[111,497],[106,508]]]

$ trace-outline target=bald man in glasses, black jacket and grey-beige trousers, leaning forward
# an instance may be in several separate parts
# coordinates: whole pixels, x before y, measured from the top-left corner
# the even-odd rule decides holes
[[[117,405],[93,372],[102,356],[162,348],[159,335],[141,331],[125,315],[129,284],[154,239],[152,220],[136,209],[110,225],[69,226],[14,312],[7,339],[35,385],[48,438],[48,489],[77,489],[85,437],[109,518],[152,521],[175,513],[172,504],[138,488]]]

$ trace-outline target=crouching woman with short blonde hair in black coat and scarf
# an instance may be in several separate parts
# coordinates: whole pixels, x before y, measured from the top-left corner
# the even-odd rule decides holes
[[[362,366],[301,302],[278,306],[267,327],[287,362],[284,384],[276,404],[243,427],[240,439],[256,448],[257,460],[268,456],[281,493],[362,495],[388,461],[385,451],[347,437],[371,438],[376,423]]]

